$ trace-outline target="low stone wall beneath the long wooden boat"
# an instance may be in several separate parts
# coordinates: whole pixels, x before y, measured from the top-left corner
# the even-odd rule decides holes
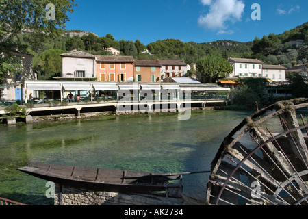
[[[94,192],[80,188],[55,186],[54,205],[183,205],[182,198],[166,198],[151,194],[124,194],[118,192]]]

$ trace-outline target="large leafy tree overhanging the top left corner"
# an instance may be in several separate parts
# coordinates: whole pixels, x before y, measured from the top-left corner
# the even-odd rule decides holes
[[[45,9],[47,4],[54,5],[55,18],[49,19]],[[62,34],[66,21],[66,13],[73,12],[73,0],[0,0],[0,79],[4,75],[16,71],[18,60],[12,51],[25,53],[27,45],[14,41],[18,34],[28,33],[36,44],[47,38],[57,38]]]

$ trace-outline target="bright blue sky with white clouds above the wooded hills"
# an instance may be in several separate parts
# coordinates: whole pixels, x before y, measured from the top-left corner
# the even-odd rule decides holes
[[[281,34],[308,21],[307,0],[75,0],[66,29],[112,34],[116,40],[149,44],[174,38],[183,42],[253,41]],[[261,20],[251,14],[257,3]]]

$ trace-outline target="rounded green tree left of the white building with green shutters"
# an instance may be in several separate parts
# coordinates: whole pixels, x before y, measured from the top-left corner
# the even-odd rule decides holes
[[[203,80],[208,80],[209,83],[216,77],[224,77],[226,73],[233,72],[233,67],[229,61],[219,56],[207,55],[199,59],[196,64]]]

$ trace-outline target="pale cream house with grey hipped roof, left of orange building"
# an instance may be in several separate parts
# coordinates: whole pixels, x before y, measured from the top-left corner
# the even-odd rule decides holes
[[[62,75],[60,79],[89,80],[96,79],[95,55],[78,51],[64,53],[62,56]],[[58,79],[59,79],[58,78]]]

